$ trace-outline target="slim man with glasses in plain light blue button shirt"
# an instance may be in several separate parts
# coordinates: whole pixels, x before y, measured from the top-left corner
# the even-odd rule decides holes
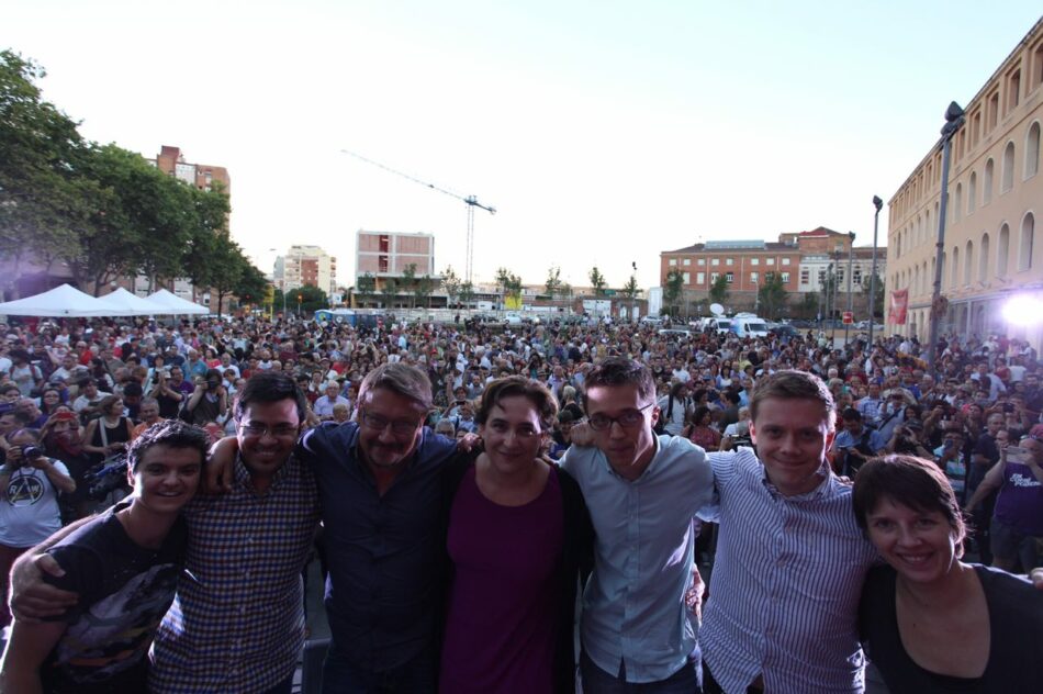
[[[597,536],[583,594],[583,690],[587,693],[698,691],[692,586],[695,512],[710,502],[714,475],[703,449],[657,437],[651,371],[610,357],[586,379],[584,406],[596,448],[562,459],[583,490]]]

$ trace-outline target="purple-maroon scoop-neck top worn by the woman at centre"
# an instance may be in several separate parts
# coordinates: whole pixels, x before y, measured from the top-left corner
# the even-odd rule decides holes
[[[449,516],[449,594],[439,691],[552,690],[564,515],[554,469],[523,506],[486,499],[467,471]]]

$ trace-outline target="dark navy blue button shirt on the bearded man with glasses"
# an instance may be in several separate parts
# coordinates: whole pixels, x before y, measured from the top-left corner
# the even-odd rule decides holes
[[[333,647],[375,672],[434,645],[444,604],[446,466],[455,441],[424,429],[413,460],[381,496],[355,422],[307,432],[323,503]]]

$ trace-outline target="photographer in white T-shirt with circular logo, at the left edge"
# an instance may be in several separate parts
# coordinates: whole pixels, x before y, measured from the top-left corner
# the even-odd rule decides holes
[[[19,555],[61,527],[58,492],[71,493],[76,482],[59,460],[52,460],[31,429],[4,437],[8,447],[0,467],[0,581],[8,594],[8,574]],[[0,607],[0,627],[11,623],[8,601]]]

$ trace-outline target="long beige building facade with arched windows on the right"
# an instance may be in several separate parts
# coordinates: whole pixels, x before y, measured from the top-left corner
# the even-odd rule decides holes
[[[1040,130],[1043,125],[1043,20],[964,105],[966,122],[952,141],[942,295],[943,333],[989,333],[1029,339],[1038,349],[1043,325],[1009,322],[1013,296],[1043,305],[1043,213]],[[886,301],[908,290],[905,325],[888,332],[927,340],[941,206],[942,148],[937,143],[888,201]]]

